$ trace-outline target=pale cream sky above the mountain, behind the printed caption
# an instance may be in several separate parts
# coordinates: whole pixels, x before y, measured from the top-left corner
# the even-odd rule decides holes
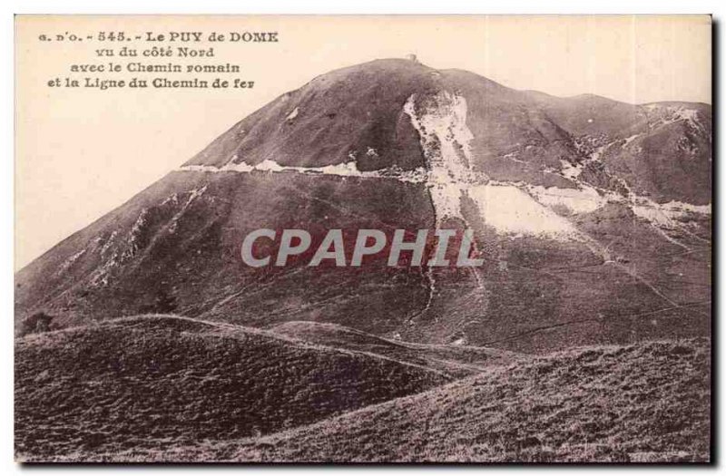
[[[253,80],[251,90],[46,86],[69,75],[71,63],[123,59],[95,57],[98,44],[40,42],[39,34],[119,30],[278,31],[280,42],[202,44],[217,56],[198,63],[239,64],[241,73],[221,77]],[[16,17],[15,269],[281,93],[333,69],[408,53],[515,89],[711,103],[709,16]]]

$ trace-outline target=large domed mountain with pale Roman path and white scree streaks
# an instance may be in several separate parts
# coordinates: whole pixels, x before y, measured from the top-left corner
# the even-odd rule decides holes
[[[485,263],[253,268],[257,228],[471,228]],[[34,260],[15,319],[318,321],[544,352],[708,335],[710,261],[711,106],[378,60],[283,94]]]

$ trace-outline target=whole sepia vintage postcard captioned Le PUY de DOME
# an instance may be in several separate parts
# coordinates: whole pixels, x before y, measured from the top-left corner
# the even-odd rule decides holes
[[[17,461],[711,461],[710,16],[15,30]]]

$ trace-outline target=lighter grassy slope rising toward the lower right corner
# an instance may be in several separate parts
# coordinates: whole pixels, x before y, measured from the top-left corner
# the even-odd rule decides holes
[[[259,439],[117,461],[705,461],[705,339],[582,348]]]

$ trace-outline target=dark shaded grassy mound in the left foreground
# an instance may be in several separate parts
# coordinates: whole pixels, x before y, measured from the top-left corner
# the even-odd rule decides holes
[[[276,432],[449,382],[385,357],[143,316],[15,341],[26,461]]]

